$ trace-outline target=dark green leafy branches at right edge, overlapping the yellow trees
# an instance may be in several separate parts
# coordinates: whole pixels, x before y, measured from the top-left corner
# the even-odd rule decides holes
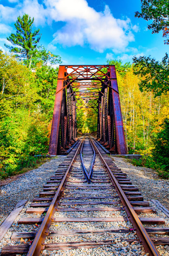
[[[133,58],[134,74],[141,77],[139,87],[141,91],[152,91],[156,96],[169,91],[169,56],[166,53],[162,62],[154,58],[140,56]]]

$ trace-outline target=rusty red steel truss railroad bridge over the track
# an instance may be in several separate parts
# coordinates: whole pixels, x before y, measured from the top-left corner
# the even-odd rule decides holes
[[[127,154],[114,65],[60,65],[49,154],[64,154],[76,141],[76,113],[97,112],[97,140],[113,154]]]

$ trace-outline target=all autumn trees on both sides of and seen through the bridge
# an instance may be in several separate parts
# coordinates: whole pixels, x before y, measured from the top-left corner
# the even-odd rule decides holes
[[[141,0],[136,17],[152,20],[152,33],[163,31],[169,44],[169,1]],[[11,55],[0,51],[0,178],[37,163],[35,154],[48,152],[58,68],[61,57],[40,45],[34,19],[18,17],[16,34],[7,39]],[[115,64],[129,154],[142,154],[137,165],[157,169],[169,177],[169,58],[133,57]],[[97,114],[77,113],[78,132],[96,132]]]

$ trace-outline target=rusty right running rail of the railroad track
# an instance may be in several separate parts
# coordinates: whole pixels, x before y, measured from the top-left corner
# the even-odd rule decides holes
[[[99,154],[99,157],[106,167],[111,180],[113,181],[115,185],[115,189],[118,192],[119,198],[121,199],[122,204],[124,205],[124,209],[127,212],[127,215],[135,228],[135,231],[138,235],[138,238],[140,239],[141,243],[143,244],[144,250],[146,253],[149,253],[149,256],[160,256],[158,253],[157,248],[155,247],[155,244],[153,243],[152,239],[149,237],[148,233],[146,232],[143,224],[141,223],[140,219],[138,218],[138,215],[134,211],[132,205],[130,204],[130,201],[127,199],[127,196],[124,194],[124,191],[121,189],[120,184],[116,180],[115,176],[113,175],[113,172],[111,171],[110,167],[104,160],[104,157],[101,155],[99,149],[96,147],[96,145],[93,143],[92,139],[89,136],[89,139],[91,143],[93,144],[93,148],[95,148],[96,152]]]

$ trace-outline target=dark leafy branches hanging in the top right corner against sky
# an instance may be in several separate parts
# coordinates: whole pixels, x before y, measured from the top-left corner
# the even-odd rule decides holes
[[[135,12],[135,17],[152,20],[148,29],[152,34],[163,31],[163,37],[169,35],[169,0],[141,0],[141,12]],[[165,41],[169,44],[169,38]]]

